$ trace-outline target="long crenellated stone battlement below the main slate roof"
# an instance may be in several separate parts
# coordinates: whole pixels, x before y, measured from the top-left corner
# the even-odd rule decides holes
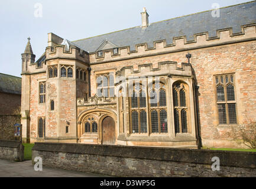
[[[239,42],[256,40],[256,24],[241,26],[242,32],[234,33],[232,28],[217,30],[217,37],[209,37],[208,32],[194,34],[194,40],[187,40],[186,35],[174,37],[173,43],[167,44],[166,40],[154,41],[154,47],[148,47],[147,43],[136,44],[135,50],[131,47],[119,48],[118,54],[113,50],[103,50],[103,56],[89,53],[90,64],[108,63],[111,61],[127,60],[130,58],[154,56],[158,54],[177,53],[180,51],[195,50],[198,48],[208,48],[218,45],[228,45]]]

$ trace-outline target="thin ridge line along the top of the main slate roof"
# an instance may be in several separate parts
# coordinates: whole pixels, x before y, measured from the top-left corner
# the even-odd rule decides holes
[[[256,0],[244,2],[244,3],[241,3],[241,4],[223,6],[223,7],[219,8],[219,9],[229,8],[229,7],[232,7],[232,6],[238,6],[238,5],[249,4],[249,3],[252,3],[252,2],[256,2]],[[176,19],[176,18],[189,17],[190,15],[201,14],[201,13],[203,13],[203,12],[209,12],[209,11],[213,11],[213,10],[214,10],[214,9],[210,9],[210,10],[208,10],[208,11],[201,11],[201,12],[196,12],[196,13],[193,13],[193,14],[183,15],[183,16],[180,16],[180,17],[175,17],[175,18],[170,18],[170,19],[164,19],[164,20],[162,20],[162,21],[152,22],[152,23],[150,23],[150,24],[156,24],[156,23],[159,23],[159,22],[169,21],[169,20],[171,20],[171,19]],[[124,30],[118,30],[118,31],[108,32],[108,33],[106,33],[106,34],[95,35],[95,36],[93,36],[93,37],[83,38],[83,39],[80,39],[80,40],[74,40],[74,41],[71,41],[71,42],[82,41],[82,40],[88,40],[89,38],[94,38],[94,37],[99,37],[99,36],[102,36],[102,35],[113,34],[113,33],[115,33],[115,32],[130,30],[130,29],[132,29],[132,28],[138,28],[138,27],[141,27],[141,25],[135,26],[135,27],[131,27],[131,28],[127,28],[127,29],[124,29]]]

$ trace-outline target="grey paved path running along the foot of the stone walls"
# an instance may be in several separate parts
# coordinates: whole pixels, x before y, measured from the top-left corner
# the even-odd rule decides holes
[[[79,171],[61,170],[43,167],[43,171],[34,171],[31,161],[15,162],[0,159],[0,177],[106,177]]]

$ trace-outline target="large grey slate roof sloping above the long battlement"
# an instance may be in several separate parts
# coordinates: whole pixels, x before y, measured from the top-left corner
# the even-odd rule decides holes
[[[241,26],[256,23],[256,1],[221,8],[220,17],[212,17],[212,10],[197,14],[167,19],[149,24],[147,28],[129,28],[72,41],[89,53],[95,52],[106,41],[118,47],[130,47],[135,50],[136,44],[147,43],[148,48],[154,47],[154,41],[166,40],[173,44],[174,37],[186,36],[187,41],[194,41],[194,34],[208,32],[210,38],[217,37],[217,30],[232,28],[233,34],[241,33]]]

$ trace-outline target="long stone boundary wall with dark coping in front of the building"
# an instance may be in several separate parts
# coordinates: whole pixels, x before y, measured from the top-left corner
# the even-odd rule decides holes
[[[46,167],[117,177],[256,177],[255,152],[35,142],[35,157]]]

